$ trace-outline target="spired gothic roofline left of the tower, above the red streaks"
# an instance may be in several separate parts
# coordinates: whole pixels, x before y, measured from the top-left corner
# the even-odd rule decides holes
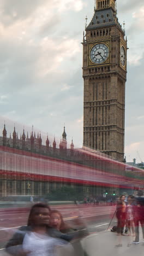
[[[53,139],[52,146],[48,136],[46,138],[45,145],[44,145],[42,143],[41,134],[38,133],[36,137],[33,129],[30,136],[28,136],[28,132],[26,135],[25,130],[23,129],[23,133],[22,135],[20,135],[20,138],[19,138],[18,133],[16,132],[14,127],[13,135],[11,136],[11,133],[10,133],[10,136],[7,137],[7,130],[4,124],[3,135],[0,136],[0,146],[22,149],[22,150],[30,151],[33,153],[46,154],[46,155],[54,154],[59,156],[67,156],[67,155],[73,156],[73,152],[74,152],[73,139],[70,144],[70,149],[67,149],[67,134],[65,132],[65,126],[62,134],[61,142],[57,147],[55,137]]]

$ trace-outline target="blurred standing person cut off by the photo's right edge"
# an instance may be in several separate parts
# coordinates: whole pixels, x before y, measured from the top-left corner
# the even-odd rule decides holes
[[[141,224],[142,234],[144,239],[144,197],[143,191],[139,190],[137,192],[136,206],[135,206],[135,216],[134,216],[134,223],[135,223],[135,241],[133,243],[139,243],[139,223]]]

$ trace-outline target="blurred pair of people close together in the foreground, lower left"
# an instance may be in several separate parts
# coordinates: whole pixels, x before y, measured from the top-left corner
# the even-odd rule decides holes
[[[76,221],[75,226],[66,224],[61,212],[51,211],[44,203],[32,206],[26,226],[21,226],[6,246],[11,255],[53,256],[86,255],[80,239],[87,235],[86,224]]]

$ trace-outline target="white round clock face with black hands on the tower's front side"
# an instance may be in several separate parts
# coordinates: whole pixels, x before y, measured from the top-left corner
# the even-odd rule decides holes
[[[105,44],[95,44],[91,50],[90,58],[95,64],[101,64],[109,57],[109,48]]]

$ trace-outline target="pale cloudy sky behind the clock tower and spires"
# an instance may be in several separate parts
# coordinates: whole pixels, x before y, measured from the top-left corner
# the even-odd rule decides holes
[[[1,0],[0,135],[41,131],[43,143],[59,143],[63,126],[68,144],[82,147],[82,38],[85,18],[93,17],[94,0]],[[144,2],[117,0],[125,21],[128,74],[125,97],[125,155],[144,161],[143,56]]]

